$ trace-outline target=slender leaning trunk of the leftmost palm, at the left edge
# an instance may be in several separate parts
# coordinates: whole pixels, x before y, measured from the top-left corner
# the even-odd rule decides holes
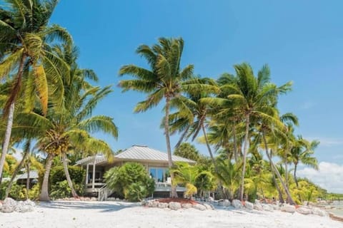
[[[20,84],[21,76],[23,75],[25,59],[26,59],[25,55],[21,56],[19,69],[17,73],[18,84]],[[17,92],[15,91],[14,93],[17,93]],[[11,95],[10,99],[11,99],[11,104],[9,105],[9,116],[7,118],[6,131],[4,135],[4,142],[2,143],[2,152],[1,152],[1,157],[0,157],[0,184],[2,180],[2,171],[4,170],[6,154],[7,154],[7,151],[9,150],[9,140],[11,139],[11,131],[12,131],[12,125],[13,125],[13,118],[14,118],[14,106],[16,103],[16,94]]]

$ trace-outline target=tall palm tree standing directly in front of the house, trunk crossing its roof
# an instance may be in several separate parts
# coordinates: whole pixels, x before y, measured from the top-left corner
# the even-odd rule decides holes
[[[147,98],[134,108],[134,112],[144,112],[165,100],[164,135],[166,136],[166,150],[168,165],[172,168],[172,147],[169,138],[169,112],[172,100],[180,98],[186,90],[195,88],[194,81],[189,81],[193,74],[193,65],[183,69],[180,66],[184,41],[182,38],[159,38],[159,43],[149,47],[141,45],[136,53],[146,59],[150,69],[135,65],[121,67],[119,76],[131,75],[135,79],[120,81],[119,86],[126,90],[136,90],[147,93]],[[193,85],[193,86],[192,86]],[[171,172],[171,178],[174,175]],[[176,186],[172,186],[172,197],[177,197]]]

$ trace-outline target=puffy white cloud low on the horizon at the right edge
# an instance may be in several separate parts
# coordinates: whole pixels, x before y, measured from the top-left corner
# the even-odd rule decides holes
[[[297,173],[299,177],[307,177],[328,192],[343,193],[343,165],[320,162],[319,170],[305,167]]]

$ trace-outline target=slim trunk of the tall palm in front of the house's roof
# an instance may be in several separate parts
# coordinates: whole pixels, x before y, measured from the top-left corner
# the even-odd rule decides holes
[[[170,97],[166,96],[166,117],[164,118],[164,135],[166,135],[166,151],[168,154],[168,167],[169,170],[173,167],[172,160],[172,147],[170,146],[170,137],[169,137],[169,108],[170,108]],[[174,185],[174,173],[170,172],[170,178],[172,179],[172,189],[170,192],[170,197],[177,197],[177,186]]]

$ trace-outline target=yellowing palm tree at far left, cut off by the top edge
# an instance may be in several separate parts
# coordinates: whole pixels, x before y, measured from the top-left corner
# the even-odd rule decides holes
[[[56,38],[70,43],[71,37],[64,28],[49,25],[49,18],[57,2],[57,0],[6,0],[6,6],[1,9],[0,77],[3,78],[9,74],[12,76],[14,71],[16,73],[13,76],[11,92],[4,108],[7,123],[0,157],[0,176],[9,147],[15,103],[23,86],[23,77],[31,78],[31,90],[38,93],[43,113],[46,113],[48,107],[48,95],[53,95],[56,103],[62,102],[64,89],[61,83],[61,73],[64,73],[68,67],[51,52],[49,43]],[[29,69],[32,69],[31,74],[24,73]],[[48,90],[48,84],[54,86],[54,89]],[[31,99],[28,98],[28,100]]]

